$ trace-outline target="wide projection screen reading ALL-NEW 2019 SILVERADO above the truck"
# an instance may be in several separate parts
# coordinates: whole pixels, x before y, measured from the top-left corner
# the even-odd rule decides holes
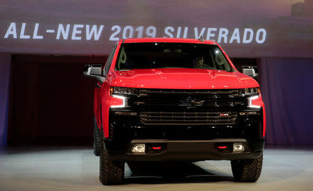
[[[6,1],[0,51],[107,55],[122,38],[215,40],[232,57],[313,55],[312,0]]]

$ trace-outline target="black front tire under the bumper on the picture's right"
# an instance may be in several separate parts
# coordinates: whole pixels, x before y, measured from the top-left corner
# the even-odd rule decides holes
[[[235,181],[255,182],[262,171],[263,153],[257,159],[232,160],[232,174]]]

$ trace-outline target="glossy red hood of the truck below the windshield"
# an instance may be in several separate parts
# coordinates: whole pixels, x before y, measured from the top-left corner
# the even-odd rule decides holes
[[[211,69],[131,69],[115,71],[114,86],[159,89],[239,89],[259,87],[240,72]]]

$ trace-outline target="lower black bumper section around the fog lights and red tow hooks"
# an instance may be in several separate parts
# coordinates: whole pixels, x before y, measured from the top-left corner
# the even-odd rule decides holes
[[[232,145],[242,143],[245,151],[233,152]],[[135,144],[145,144],[145,153],[131,153]],[[218,149],[218,146],[227,149]],[[148,150],[149,147],[161,147],[159,151]],[[104,140],[104,148],[112,160],[119,161],[200,161],[200,160],[236,160],[259,158],[264,148],[264,140],[248,142],[246,139],[214,140],[131,140],[127,151],[111,149],[112,142]]]

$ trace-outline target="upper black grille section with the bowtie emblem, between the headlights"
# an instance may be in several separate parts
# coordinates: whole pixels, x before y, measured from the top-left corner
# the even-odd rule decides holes
[[[141,89],[134,106],[163,107],[163,109],[196,108],[207,110],[210,108],[234,108],[245,105],[246,99],[239,96],[239,90],[160,90]]]

